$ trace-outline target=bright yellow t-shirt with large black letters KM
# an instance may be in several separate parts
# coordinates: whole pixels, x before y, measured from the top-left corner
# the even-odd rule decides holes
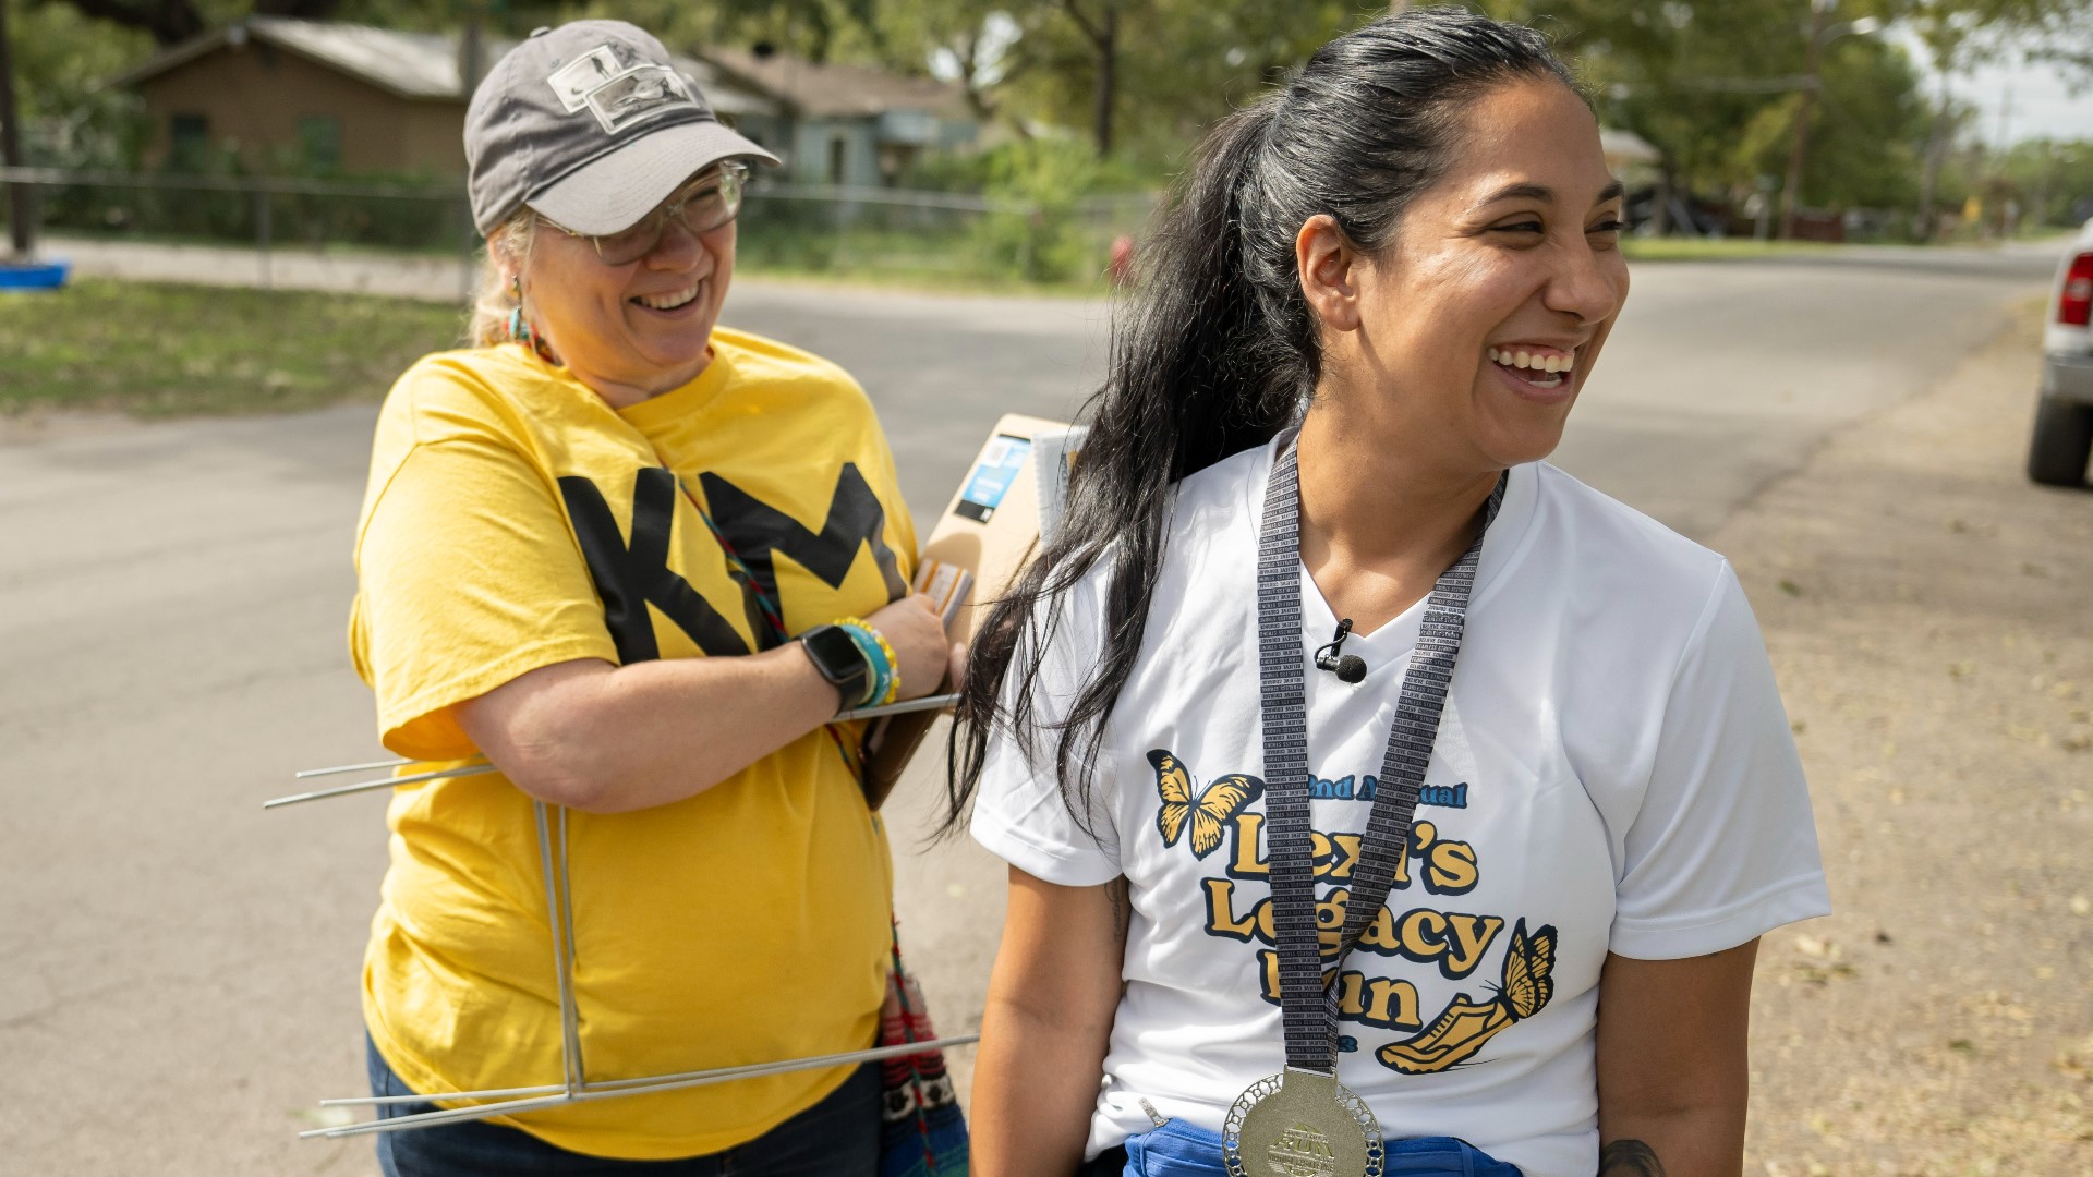
[[[624,410],[513,343],[400,377],[358,526],[350,647],[381,739],[421,760],[402,775],[475,756],[452,708],[525,670],[777,645],[678,478],[774,580],[789,632],[906,591],[915,528],[879,421],[806,352],[720,329],[695,381]],[[846,735],[854,752],[862,733]],[[364,957],[379,1051],[425,1093],[559,1083],[530,798],[498,773],[408,785],[387,823]],[[827,733],[676,804],[571,813],[569,854],[586,1079],[873,1045],[892,863]],[[515,1127],[597,1156],[695,1156],[762,1135],[846,1076],[605,1100]]]

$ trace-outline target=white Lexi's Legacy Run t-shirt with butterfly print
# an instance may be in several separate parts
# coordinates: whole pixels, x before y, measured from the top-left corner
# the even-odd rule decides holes
[[[1126,875],[1132,928],[1088,1154],[1141,1100],[1218,1131],[1283,1068],[1262,836],[1256,532],[1273,448],[1183,482],[1147,635],[1097,760],[1093,831],[996,733],[973,836],[1061,886]],[[1038,702],[1097,666],[1103,568],[1067,599]],[[1423,603],[1308,670],[1323,928],[1342,921]],[[1302,572],[1302,653],[1331,616]],[[1247,779],[1245,779],[1247,777]],[[1331,901],[1335,903],[1331,905]],[[1528,1177],[1599,1150],[1599,965],[1737,947],[1829,913],[1802,764],[1729,563],[1559,469],[1511,471],[1386,909],[1344,961],[1340,1079],[1390,1139],[1453,1135]]]

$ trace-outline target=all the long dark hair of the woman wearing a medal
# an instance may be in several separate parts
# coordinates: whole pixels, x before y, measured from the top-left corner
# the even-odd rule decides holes
[[[1459,107],[1522,77],[1572,90],[1549,42],[1463,8],[1413,8],[1350,31],[1283,90],[1226,117],[1145,247],[1139,293],[1113,325],[1109,371],[1090,396],[1067,515],[1009,593],[988,607],[950,735],[946,829],[959,825],[994,729],[1053,767],[1070,810],[1090,821],[1090,771],[1105,720],[1141,653],[1164,563],[1172,484],[1287,427],[1323,371],[1293,239],[1329,214],[1375,253],[1457,149]],[[1040,723],[1040,653],[1063,595],[1109,563],[1097,664],[1065,716]]]

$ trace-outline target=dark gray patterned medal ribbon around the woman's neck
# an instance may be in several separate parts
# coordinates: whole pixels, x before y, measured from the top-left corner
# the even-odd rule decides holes
[[[1440,712],[1461,653],[1467,599],[1476,588],[1482,536],[1505,501],[1496,480],[1482,509],[1476,540],[1432,586],[1417,651],[1402,676],[1396,720],[1381,756],[1381,775],[1367,815],[1352,890],[1344,905],[1337,951],[1327,955],[1316,930],[1314,848],[1308,825],[1308,699],[1302,653],[1300,467],[1296,438],[1281,444],[1264,486],[1258,532],[1258,683],[1264,712],[1264,829],[1270,850],[1273,932],[1279,940],[1279,1003],[1287,1068],[1337,1072],[1337,995],[1323,984],[1327,968],[1344,965],[1352,945],[1388,901],[1396,867],[1409,852],[1411,815],[1432,762]]]

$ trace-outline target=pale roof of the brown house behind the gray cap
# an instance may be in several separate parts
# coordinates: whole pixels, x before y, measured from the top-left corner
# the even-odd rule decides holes
[[[450,103],[467,98],[458,71],[460,34],[402,34],[373,25],[297,21],[291,17],[249,17],[201,34],[161,52],[138,69],[111,80],[111,86],[138,86],[218,48],[247,44],[249,38],[285,52],[295,52],[402,98]],[[513,40],[488,40],[486,63],[494,65],[515,46],[517,42]],[[670,61],[676,69],[689,73],[712,103],[712,109],[724,115],[774,111],[770,98],[724,82],[710,63],[684,54],[672,54]]]

